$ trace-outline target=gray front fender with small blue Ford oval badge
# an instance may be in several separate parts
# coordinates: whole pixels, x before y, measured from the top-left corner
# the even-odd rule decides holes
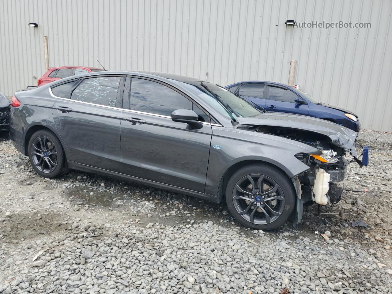
[[[218,146],[220,148],[216,148]],[[294,156],[297,153],[321,152],[305,143],[270,134],[213,127],[205,193],[218,195],[225,172],[233,165],[249,160],[270,163],[293,178],[309,169]]]

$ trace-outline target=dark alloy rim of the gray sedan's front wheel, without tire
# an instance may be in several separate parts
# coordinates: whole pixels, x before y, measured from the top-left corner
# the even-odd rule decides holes
[[[234,186],[232,199],[238,214],[256,225],[278,220],[285,208],[285,197],[278,183],[262,174],[241,178]]]

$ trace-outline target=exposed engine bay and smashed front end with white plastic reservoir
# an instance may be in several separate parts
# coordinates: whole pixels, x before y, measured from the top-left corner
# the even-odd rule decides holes
[[[296,215],[292,218],[294,226],[301,221],[303,205],[312,203],[327,205],[328,202],[338,203],[340,201],[343,190],[338,187],[336,182],[345,179],[348,165],[346,154],[347,151],[350,151],[353,157],[356,155],[355,144],[350,147],[351,149],[345,149],[334,144],[330,136],[304,129],[272,125],[239,125],[238,127],[296,140],[309,144],[322,152],[320,155],[295,154],[295,157],[308,165],[309,169],[292,179],[298,195]],[[354,157],[354,159],[361,165],[357,158]]]

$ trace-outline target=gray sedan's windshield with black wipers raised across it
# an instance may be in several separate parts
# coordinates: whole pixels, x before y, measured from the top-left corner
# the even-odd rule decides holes
[[[233,94],[221,86],[209,82],[198,81],[180,83],[183,87],[187,88],[190,92],[194,93],[196,96],[201,98],[201,100],[208,103],[216,111],[229,119],[235,120],[237,116],[256,117],[262,114],[261,111],[258,111],[240,96]],[[211,90],[214,94],[210,93],[209,90]]]

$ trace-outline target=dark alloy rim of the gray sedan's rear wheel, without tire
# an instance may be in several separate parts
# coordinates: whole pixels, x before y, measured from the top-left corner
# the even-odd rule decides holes
[[[42,172],[54,171],[57,166],[57,150],[53,142],[46,136],[38,136],[31,146],[33,164]]]

